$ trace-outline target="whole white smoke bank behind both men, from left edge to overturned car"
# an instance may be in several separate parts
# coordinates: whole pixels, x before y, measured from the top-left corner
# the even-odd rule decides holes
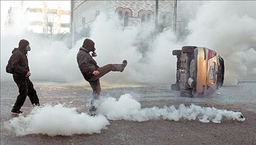
[[[103,81],[169,83],[170,80],[174,80],[176,75],[171,72],[176,69],[176,57],[171,55],[171,51],[180,48],[181,45],[176,43],[176,37],[171,30],[164,32],[149,43],[151,49],[148,50],[146,57],[142,57],[142,54],[138,52],[140,48],[135,45],[136,42],[147,41],[148,39],[142,39],[142,37],[147,37],[153,32],[153,26],[130,27],[123,30],[115,21],[107,19],[104,14],[98,16],[93,24],[90,37],[95,41],[98,54],[95,60],[98,65],[128,60],[123,73],[110,73],[103,77]],[[64,42],[39,37],[39,35],[24,32],[19,27],[6,28],[1,31],[1,34],[4,36],[1,38],[1,80],[11,79],[11,75],[5,72],[5,66],[12,49],[17,47],[19,40],[27,39],[32,49],[28,52],[31,79],[49,82],[82,82],[83,77],[78,69],[76,56],[85,38],[78,40],[76,45],[69,49]]]

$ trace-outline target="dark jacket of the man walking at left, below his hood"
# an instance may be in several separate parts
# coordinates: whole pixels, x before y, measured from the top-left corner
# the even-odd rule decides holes
[[[12,77],[14,79],[27,79],[26,74],[29,72],[29,63],[26,52],[15,48],[12,50],[11,66],[14,70]]]

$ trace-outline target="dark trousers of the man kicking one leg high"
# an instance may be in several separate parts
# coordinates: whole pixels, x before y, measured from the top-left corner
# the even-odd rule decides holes
[[[106,75],[108,72],[121,72],[124,69],[123,64],[108,64],[104,65],[103,67],[98,68],[98,72],[100,72],[98,75],[93,75],[92,78],[88,80],[90,83],[92,90],[93,90],[93,96],[94,98],[98,98],[100,96],[100,78],[103,77],[103,75]]]

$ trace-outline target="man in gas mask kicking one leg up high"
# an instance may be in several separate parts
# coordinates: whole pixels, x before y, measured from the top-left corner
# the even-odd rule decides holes
[[[97,108],[95,108],[95,101],[97,101],[98,96],[100,96],[100,77],[111,71],[123,72],[127,65],[127,61],[123,60],[121,64],[108,64],[103,67],[98,67],[97,62],[92,58],[97,56],[94,45],[92,40],[85,39],[83,41],[83,46],[80,47],[77,54],[78,67],[93,90],[93,100],[91,101],[89,110],[89,115],[91,116],[94,116],[97,110]],[[90,55],[89,52],[92,52],[92,55]]]

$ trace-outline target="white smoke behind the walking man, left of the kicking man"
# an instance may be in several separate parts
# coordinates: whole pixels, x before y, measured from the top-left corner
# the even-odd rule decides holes
[[[2,32],[3,31],[3,32]],[[17,29],[1,31],[1,80],[10,80],[11,75],[5,67],[11,51],[18,47],[19,40],[29,40],[31,52],[28,52],[29,68],[32,80],[48,82],[78,82],[82,75],[76,62],[77,49],[69,49],[64,42],[53,41],[36,34],[29,34]]]

